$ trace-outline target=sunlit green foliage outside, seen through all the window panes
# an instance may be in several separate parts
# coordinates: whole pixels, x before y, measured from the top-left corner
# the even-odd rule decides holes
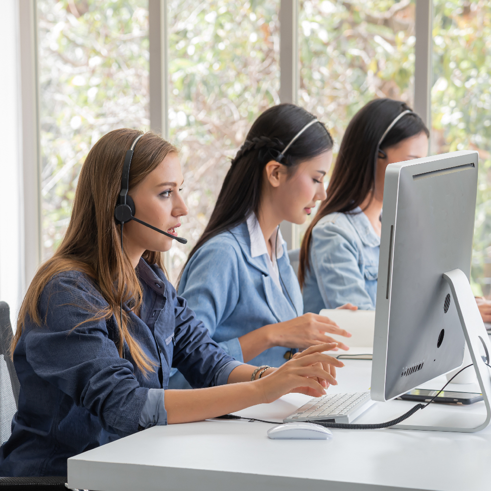
[[[149,127],[148,0],[38,0],[43,256],[104,133]],[[279,102],[279,0],[169,0],[169,121],[190,214],[171,277],[202,233],[252,121]],[[414,0],[300,0],[299,102],[339,145],[374,97],[412,105]],[[472,284],[491,282],[491,4],[434,0],[432,153],[479,151]]]

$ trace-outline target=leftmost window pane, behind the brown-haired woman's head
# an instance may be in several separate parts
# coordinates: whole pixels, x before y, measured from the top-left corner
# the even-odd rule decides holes
[[[45,260],[91,147],[112,129],[149,129],[148,0],[38,0],[37,9]]]

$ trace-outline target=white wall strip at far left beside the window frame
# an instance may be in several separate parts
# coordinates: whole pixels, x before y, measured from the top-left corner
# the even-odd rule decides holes
[[[19,4],[2,0],[0,29],[0,300],[14,323],[24,292]]]

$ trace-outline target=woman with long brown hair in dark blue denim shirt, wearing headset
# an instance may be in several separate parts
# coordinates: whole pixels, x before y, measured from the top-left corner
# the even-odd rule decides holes
[[[335,344],[257,372],[227,355],[177,296],[161,252],[187,214],[183,178],[176,149],[153,133],[134,147],[129,194],[135,217],[171,238],[135,221],[119,228],[123,161],[139,134],[112,131],[89,152],[65,237],[26,294],[13,342],[19,409],[0,448],[0,475],[66,475],[68,457],[138,429],[219,416],[292,391],[319,396],[336,384],[342,363],[321,353]],[[172,367],[199,389],[168,390]]]

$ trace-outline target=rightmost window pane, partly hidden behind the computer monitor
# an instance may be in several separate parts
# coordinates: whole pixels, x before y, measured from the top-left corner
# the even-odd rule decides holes
[[[471,285],[491,294],[491,4],[434,0],[432,154],[477,150]]]

